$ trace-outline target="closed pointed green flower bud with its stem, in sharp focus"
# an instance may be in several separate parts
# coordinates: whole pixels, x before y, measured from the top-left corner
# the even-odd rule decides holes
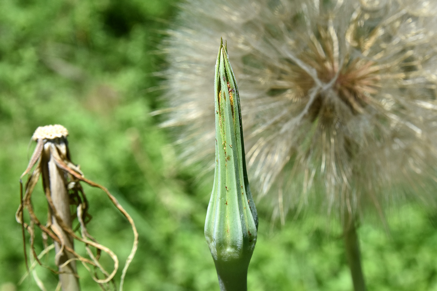
[[[215,65],[215,176],[205,238],[221,290],[246,290],[247,269],[257,242],[258,215],[244,157],[238,88],[226,45]]]

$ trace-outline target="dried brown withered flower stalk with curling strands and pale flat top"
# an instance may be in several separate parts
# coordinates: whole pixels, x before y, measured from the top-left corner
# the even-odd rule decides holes
[[[103,290],[111,288],[108,282],[114,284],[113,278],[118,270],[118,258],[115,253],[107,247],[97,243],[87,231],[87,223],[90,222],[90,214],[88,213],[88,201],[80,181],[85,182],[93,187],[101,188],[109,197],[111,202],[118,210],[127,218],[134,232],[134,243],[132,251],[126,260],[125,267],[121,274],[120,290],[123,288],[128,265],[135,255],[138,246],[138,232],[130,215],[121,207],[117,199],[109,193],[109,191],[99,185],[86,179],[80,171],[79,166],[73,164],[70,159],[70,153],[67,142],[68,131],[62,125],[47,125],[38,127],[32,136],[32,139],[37,142],[35,151],[33,152],[29,165],[21,178],[29,173],[32,168],[28,181],[25,185],[23,196],[21,185],[21,204],[17,210],[17,222],[23,226],[30,234],[31,252],[34,259],[42,265],[41,256],[49,252],[53,245],[47,244],[47,239],[53,241],[55,247],[55,264],[58,267],[59,283],[62,290],[79,290],[79,281],[76,271],[76,261],[79,260],[83,266],[90,271],[94,281],[101,285]],[[31,195],[34,191],[39,177],[42,177],[42,185],[45,192],[45,198],[48,202],[49,211],[46,221],[38,218],[32,206]],[[74,205],[76,212],[70,212],[70,205]],[[28,211],[30,222],[24,221],[24,209]],[[73,220],[77,218],[78,225],[73,228]],[[38,255],[35,251],[35,227],[41,229],[42,239],[45,249]],[[79,232],[79,233],[77,233]],[[81,242],[87,250],[86,258],[74,250],[74,242]],[[94,249],[94,251],[93,251]],[[101,252],[107,253],[114,262],[114,268],[108,272],[99,263]],[[24,254],[27,256],[26,247],[24,246]],[[91,268],[93,270],[91,270]],[[29,269],[29,267],[28,267]],[[101,275],[98,276],[97,270]],[[34,273],[34,277],[35,277]],[[103,278],[99,278],[102,277]],[[44,288],[42,282],[37,280],[40,288]],[[115,285],[113,285],[114,289]]]

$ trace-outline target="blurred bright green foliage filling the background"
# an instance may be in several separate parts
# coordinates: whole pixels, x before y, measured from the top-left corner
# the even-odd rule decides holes
[[[179,169],[167,133],[150,115],[164,106],[153,73],[165,66],[158,47],[176,2],[1,1],[1,291],[38,290],[30,277],[17,285],[25,265],[14,215],[30,137],[38,126],[56,123],[69,130],[73,162],[108,187],[139,229],[125,290],[218,290],[203,235],[212,179],[197,183],[195,173]],[[103,192],[83,187],[93,215],[90,234],[125,260],[128,223]],[[35,208],[45,209],[41,185],[37,190]],[[271,226],[268,207],[261,201],[257,208],[249,290],[351,289],[338,225],[307,214]],[[390,235],[378,222],[359,229],[369,290],[437,290],[436,212],[403,206],[388,222]],[[83,290],[99,290],[79,270]],[[57,276],[44,268],[38,274],[54,290]]]

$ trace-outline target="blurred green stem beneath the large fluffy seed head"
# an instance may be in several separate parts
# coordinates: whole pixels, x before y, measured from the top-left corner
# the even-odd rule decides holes
[[[364,282],[363,270],[361,268],[361,252],[358,241],[356,218],[345,210],[343,222],[343,240],[346,250],[346,257],[349,263],[350,274],[354,284],[354,291],[365,291],[366,284]]]

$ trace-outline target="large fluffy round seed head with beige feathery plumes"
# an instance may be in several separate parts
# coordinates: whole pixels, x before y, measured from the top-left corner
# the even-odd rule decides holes
[[[437,166],[437,5],[413,0],[188,0],[166,42],[163,126],[187,164],[214,156],[209,76],[228,40],[253,191],[274,215],[303,205],[382,215],[430,203]],[[258,182],[258,183],[257,183]],[[410,195],[411,194],[411,195]],[[258,196],[258,197],[260,197]]]

